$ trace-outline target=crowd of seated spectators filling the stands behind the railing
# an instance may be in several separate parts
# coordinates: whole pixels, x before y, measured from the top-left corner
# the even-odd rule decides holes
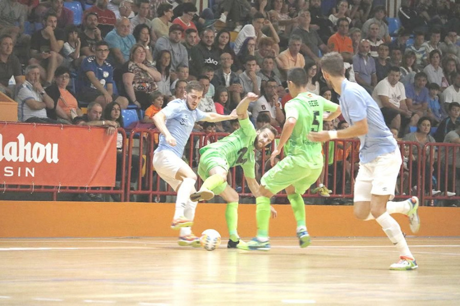
[[[101,113],[137,108],[151,123],[198,80],[199,109],[229,113],[255,92],[252,122],[281,129],[291,68],[305,68],[311,92],[338,101],[319,66],[336,51],[398,138],[460,143],[451,134],[460,125],[458,0],[404,0],[403,27],[391,33],[385,0],[222,0],[202,12],[191,0],[80,2],[76,26],[63,0],[0,0],[0,90],[18,102],[19,121],[99,122],[89,108],[82,113],[96,104]],[[26,21],[40,25],[32,35]],[[113,116],[103,122],[120,125]],[[231,132],[232,124],[213,128]]]

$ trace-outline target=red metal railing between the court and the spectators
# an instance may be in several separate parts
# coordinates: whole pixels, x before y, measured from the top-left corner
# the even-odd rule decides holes
[[[4,184],[3,192],[30,192],[30,193],[51,193],[52,200],[58,199],[60,193],[70,194],[111,194],[118,195],[121,201],[129,200],[131,196],[145,197],[142,201],[159,202],[160,197],[173,196],[175,192],[171,187],[156,175],[152,168],[153,152],[158,145],[159,133],[156,129],[134,129],[126,136],[123,129],[118,130],[123,136],[123,147],[121,154],[127,158],[122,159],[122,175],[119,182],[120,187],[104,187],[84,188],[84,187],[59,187],[59,186],[30,186],[30,185],[8,185]],[[197,152],[198,149],[208,144],[216,142],[219,138],[228,135],[227,133],[192,133],[184,156],[188,164],[195,170],[198,166]],[[135,144],[139,142],[139,144]],[[198,144],[198,146],[196,146]],[[401,156],[404,158],[404,149],[409,157],[407,167],[401,165],[400,179],[398,180],[397,189],[399,193],[396,198],[403,199],[410,195],[417,195],[421,199],[421,203],[431,200],[459,200],[460,196],[455,195],[448,197],[446,192],[455,192],[456,173],[460,175],[460,171],[456,171],[455,160],[460,148],[456,144],[434,143],[420,146],[415,142],[399,142]],[[264,152],[257,155],[259,169],[257,177],[260,178],[266,172],[266,164],[269,163],[270,153],[275,147],[273,142]],[[136,154],[136,150],[139,151]],[[280,158],[283,158],[284,153],[281,152]],[[330,155],[333,158],[330,158]],[[139,155],[138,159],[133,159],[133,155]],[[417,158],[411,160],[410,156],[415,155]],[[324,144],[324,180],[323,183],[332,190],[330,198],[352,199],[354,178],[357,174],[357,163],[359,162],[359,140],[357,139],[335,139]],[[453,159],[453,162],[452,162]],[[135,160],[138,164],[133,164]],[[447,162],[446,162],[447,161]],[[131,170],[132,167],[141,169],[137,178],[133,179],[135,184],[131,186]],[[431,171],[433,168],[433,171]],[[252,196],[250,190],[245,186],[244,176],[242,171],[236,168],[231,169],[232,180],[230,185],[237,189],[240,196]],[[237,180],[237,176],[241,176],[241,180]],[[437,178],[433,182],[431,179]],[[198,178],[197,187],[199,188],[202,181]],[[417,186],[413,188],[413,186]],[[442,191],[441,195],[431,195],[431,190]],[[2,192],[0,190],[0,192]],[[405,194],[403,194],[405,193]],[[303,195],[304,197],[317,198],[318,194],[311,194],[310,190]],[[284,192],[279,193],[276,197],[286,197]],[[138,199],[139,200],[139,199]]]

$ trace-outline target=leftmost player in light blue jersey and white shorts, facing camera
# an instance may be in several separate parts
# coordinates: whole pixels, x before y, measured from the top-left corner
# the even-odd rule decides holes
[[[197,202],[189,197],[194,193],[196,174],[182,160],[183,150],[197,121],[219,122],[236,119],[236,112],[220,115],[202,112],[197,109],[203,95],[203,87],[197,81],[191,81],[185,91],[185,100],[176,99],[160,110],[153,122],[162,133],[158,148],[153,156],[153,167],[174,191],[177,192],[176,207],[171,228],[180,229],[178,243],[181,246],[200,246],[200,239],[192,233],[191,226],[195,217]]]

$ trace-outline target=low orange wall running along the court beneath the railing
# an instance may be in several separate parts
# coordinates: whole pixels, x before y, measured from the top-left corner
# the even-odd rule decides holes
[[[270,222],[271,237],[295,235],[290,205],[274,205],[278,218]],[[379,237],[383,236],[375,221],[359,221],[352,206],[307,205],[307,226],[312,236]],[[256,232],[255,205],[239,207],[241,237]],[[13,237],[175,237],[169,228],[174,204],[113,202],[32,202],[0,201],[0,238]],[[394,215],[401,228],[410,233],[407,218]],[[460,236],[460,208],[421,207],[422,226],[419,236]],[[199,204],[194,232],[206,228],[228,236],[225,204]]]

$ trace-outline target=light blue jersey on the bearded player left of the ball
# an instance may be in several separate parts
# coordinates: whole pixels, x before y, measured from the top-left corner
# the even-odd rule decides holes
[[[202,120],[206,113],[199,109],[190,110],[185,100],[176,99],[160,110],[166,116],[166,128],[176,139],[176,145],[170,146],[163,134],[159,137],[158,148],[155,153],[163,150],[174,152],[179,158],[182,158],[183,149],[189,140],[195,122]]]

